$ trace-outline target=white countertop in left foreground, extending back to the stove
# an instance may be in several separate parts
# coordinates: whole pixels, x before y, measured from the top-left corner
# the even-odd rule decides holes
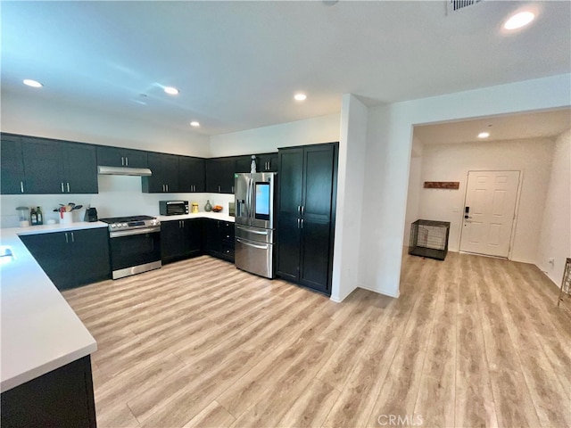
[[[0,229],[12,261],[0,265],[0,391],[7,391],[97,350],[95,339],[18,235],[105,227],[102,222]],[[8,259],[8,258],[1,258]]]

